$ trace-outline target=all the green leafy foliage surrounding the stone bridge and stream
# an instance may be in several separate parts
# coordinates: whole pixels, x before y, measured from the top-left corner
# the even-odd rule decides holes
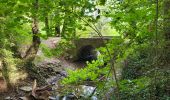
[[[37,11],[33,5],[35,1],[38,1]],[[167,6],[163,1],[157,5],[154,0],[1,0],[0,55],[5,64],[4,75],[9,80],[20,75],[16,73],[19,58],[22,59],[18,53],[24,49],[23,45],[32,42],[34,35],[29,33],[36,15],[40,26],[38,37],[56,36],[59,28],[61,37],[66,39],[55,49],[41,45],[48,57],[67,55],[67,51],[74,48],[71,41],[86,36],[91,30],[101,35],[112,27],[115,30],[109,33],[120,36],[98,49],[102,54],[98,60],[88,62],[83,69],[68,70],[69,76],[62,80],[66,86],[93,82],[100,98],[113,87],[116,90],[113,99],[119,96],[129,100],[169,99],[168,53],[164,53],[169,45],[164,42],[168,36],[162,34],[169,31],[164,30],[165,25],[169,26],[163,22],[168,19],[164,18],[167,16],[163,15],[163,6]],[[98,8],[103,10],[99,16],[93,16]],[[107,28],[100,23],[101,18],[109,19]],[[83,31],[83,35],[79,31]]]

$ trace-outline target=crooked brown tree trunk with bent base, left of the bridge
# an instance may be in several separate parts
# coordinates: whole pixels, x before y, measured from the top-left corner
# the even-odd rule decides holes
[[[38,0],[35,0],[35,2],[33,3],[33,23],[32,23],[32,45],[29,47],[29,49],[26,51],[26,54],[24,56],[25,59],[34,59],[38,49],[39,49],[39,45],[41,43],[40,41],[40,37],[38,36],[39,34],[39,27],[38,27]]]

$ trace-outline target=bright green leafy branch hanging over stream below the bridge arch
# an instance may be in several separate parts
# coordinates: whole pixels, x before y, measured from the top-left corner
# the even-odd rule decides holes
[[[102,70],[101,70],[102,69]],[[78,69],[75,71],[68,70],[69,77],[63,79],[63,84],[83,84],[84,81],[100,81],[101,75],[105,75],[108,71],[107,67],[104,67],[104,62],[101,60],[87,62],[86,68]],[[103,76],[102,76],[103,77]]]

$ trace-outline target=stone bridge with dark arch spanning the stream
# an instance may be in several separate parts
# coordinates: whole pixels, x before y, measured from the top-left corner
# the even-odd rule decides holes
[[[70,54],[73,60],[85,58],[87,55],[94,54],[93,52],[96,48],[105,46],[112,38],[113,36],[104,36],[103,39],[100,37],[79,38],[73,41],[75,48],[71,50]]]

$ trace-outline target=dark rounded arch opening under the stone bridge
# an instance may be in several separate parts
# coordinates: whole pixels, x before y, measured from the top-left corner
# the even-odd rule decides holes
[[[97,54],[95,48],[92,45],[86,45],[79,49],[78,51],[79,61],[92,61],[97,60]]]

